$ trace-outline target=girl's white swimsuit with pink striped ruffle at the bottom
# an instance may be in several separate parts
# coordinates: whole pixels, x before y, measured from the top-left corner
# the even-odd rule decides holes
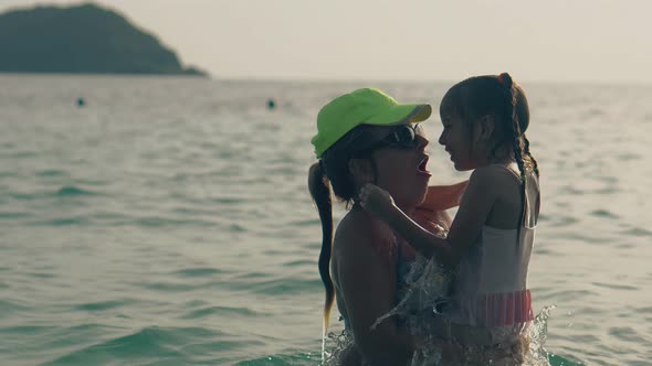
[[[507,168],[505,168],[507,169]],[[520,184],[520,177],[509,169]],[[527,268],[535,239],[538,181],[527,176],[520,229],[484,226],[461,260],[451,303],[444,311],[453,323],[496,327],[534,319]]]

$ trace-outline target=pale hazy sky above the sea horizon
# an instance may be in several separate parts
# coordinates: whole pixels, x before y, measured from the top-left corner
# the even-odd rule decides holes
[[[95,2],[214,77],[652,83],[650,0]]]

